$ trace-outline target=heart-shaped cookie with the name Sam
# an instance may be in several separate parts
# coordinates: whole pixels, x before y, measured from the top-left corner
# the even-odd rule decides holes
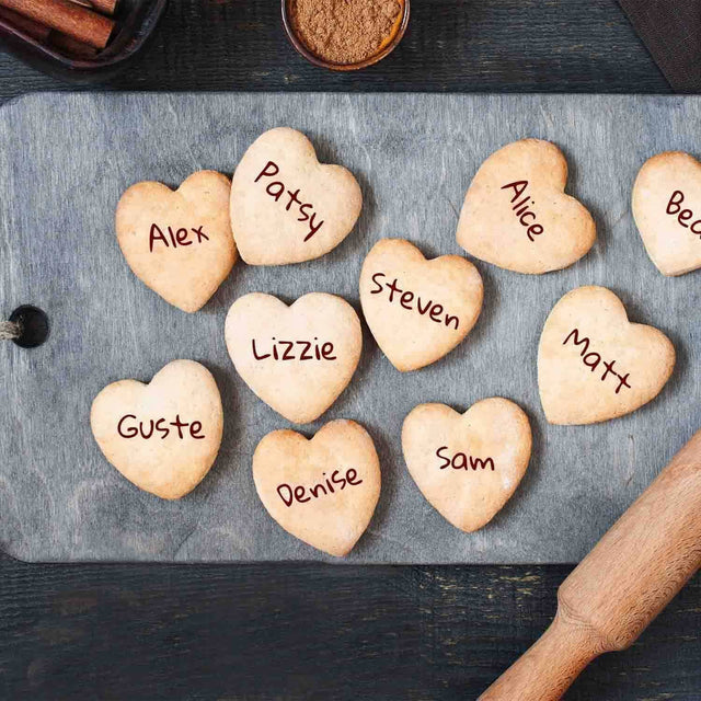
[[[516,491],[530,460],[528,416],[494,397],[459,414],[420,404],[404,420],[409,472],[428,503],[456,528],[479,530]]]

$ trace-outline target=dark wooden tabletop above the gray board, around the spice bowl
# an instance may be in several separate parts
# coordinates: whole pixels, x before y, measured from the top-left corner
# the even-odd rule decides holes
[[[0,100],[69,85],[0,56]],[[173,0],[143,57],[104,90],[669,92],[614,0],[418,0],[397,50],[365,71],[317,68],[277,0]]]

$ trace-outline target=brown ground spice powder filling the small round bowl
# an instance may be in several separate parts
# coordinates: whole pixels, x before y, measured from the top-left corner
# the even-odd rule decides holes
[[[402,10],[398,0],[289,0],[292,30],[312,53],[333,64],[375,56]]]

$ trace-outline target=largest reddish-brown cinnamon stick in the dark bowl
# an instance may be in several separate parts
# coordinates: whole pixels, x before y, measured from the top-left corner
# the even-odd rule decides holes
[[[0,0],[0,7],[14,10],[95,48],[107,45],[115,25],[113,20],[70,0]]]

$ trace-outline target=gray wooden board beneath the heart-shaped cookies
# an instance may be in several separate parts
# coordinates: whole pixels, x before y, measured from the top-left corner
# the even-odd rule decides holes
[[[238,264],[203,311],[185,314],[133,275],[116,244],[115,205],[140,180],[177,184],[191,172],[231,173],[274,126],[307,133],[322,160],[356,173],[365,206],[329,255],[273,268]],[[554,563],[579,560],[699,423],[698,274],[665,278],[648,261],[630,212],[631,186],[655,152],[701,152],[697,97],[427,94],[41,94],[0,110],[0,314],[45,309],[49,342],[0,344],[0,543],[28,561],[327,560],[284,532],[260,504],[251,456],[287,422],[237,376],[223,343],[231,302],[252,290],[292,300],[312,290],[359,310],[366,252],[404,237],[427,255],[460,253],[457,216],[480,163],[522,137],[559,143],[568,192],[594,212],[599,238],[571,268],[524,276],[476,262],[485,303],[476,327],[441,361],[395,371],[367,327],[349,388],[315,424],[363,423],[378,447],[382,494],[359,563]],[[678,365],[659,398],[623,418],[549,426],[538,399],[543,321],[579,285],[613,289],[634,321],[666,332]],[[180,502],[125,481],[89,426],[93,397],[122,378],[148,381],[193,358],[215,375],[225,439],[206,480]],[[503,395],[528,412],[529,471],[482,531],[462,533],[409,476],[400,446],[406,413],[425,401],[464,410]],[[337,562],[337,561],[335,561]]]

